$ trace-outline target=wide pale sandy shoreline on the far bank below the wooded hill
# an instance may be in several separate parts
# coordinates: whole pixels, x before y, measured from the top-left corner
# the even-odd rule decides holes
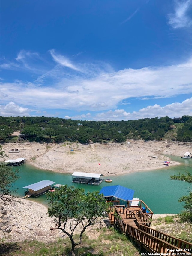
[[[125,143],[27,143],[15,142],[2,144],[8,154],[11,149],[19,153],[9,154],[10,159],[26,158],[33,166],[61,173],[88,172],[101,173],[104,176],[122,175],[133,171],[169,168],[164,161],[165,155],[183,156],[190,152],[190,142],[167,142],[128,140]],[[156,156],[158,158],[153,158]],[[8,159],[8,158],[7,158]],[[3,159],[0,159],[2,161]],[[98,164],[101,165],[98,165]],[[171,161],[170,166],[178,165]]]

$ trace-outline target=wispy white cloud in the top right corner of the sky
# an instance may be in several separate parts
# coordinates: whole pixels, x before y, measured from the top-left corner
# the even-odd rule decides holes
[[[192,0],[175,0],[174,13],[168,14],[168,24],[175,29],[191,27],[191,8]]]

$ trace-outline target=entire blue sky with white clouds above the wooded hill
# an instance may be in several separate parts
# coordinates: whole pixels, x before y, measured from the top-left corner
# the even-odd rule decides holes
[[[192,116],[192,0],[6,0],[0,12],[1,116]]]

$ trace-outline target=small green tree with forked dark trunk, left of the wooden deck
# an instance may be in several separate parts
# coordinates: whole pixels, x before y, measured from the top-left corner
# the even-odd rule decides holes
[[[109,208],[98,191],[85,194],[84,189],[74,186],[61,186],[54,193],[48,192],[48,214],[54,217],[58,229],[71,240],[71,253],[75,256],[75,246],[81,244],[82,234],[88,226],[101,223],[103,213]],[[80,230],[79,238],[74,240],[74,232]]]

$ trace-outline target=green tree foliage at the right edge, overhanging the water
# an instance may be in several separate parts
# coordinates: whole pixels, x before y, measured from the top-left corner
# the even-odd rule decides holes
[[[186,174],[179,173],[178,175],[171,176],[171,180],[182,180],[188,183],[192,183],[192,175],[189,172]],[[192,191],[190,191],[189,195],[184,195],[178,200],[179,202],[184,202],[185,210],[179,214],[179,219],[182,222],[190,221],[192,222]]]

